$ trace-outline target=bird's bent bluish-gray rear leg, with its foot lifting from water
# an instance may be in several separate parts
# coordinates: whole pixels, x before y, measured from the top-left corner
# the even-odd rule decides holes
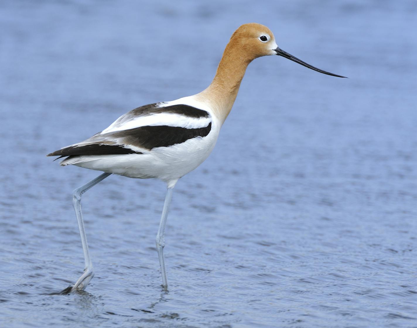
[[[93,263],[91,263],[90,253],[88,252],[87,236],[85,235],[84,230],[83,214],[81,213],[81,196],[88,189],[99,183],[101,180],[107,178],[109,175],[111,175],[111,173],[103,173],[99,175],[97,178],[89,181],[85,185],[82,185],[80,188],[77,188],[73,191],[73,206],[75,210],[75,215],[77,216],[78,228],[80,229],[81,243],[83,244],[85,268],[84,273],[77,280],[75,285],[73,285],[73,287],[71,288],[72,292],[76,289],[84,290],[94,275]]]

